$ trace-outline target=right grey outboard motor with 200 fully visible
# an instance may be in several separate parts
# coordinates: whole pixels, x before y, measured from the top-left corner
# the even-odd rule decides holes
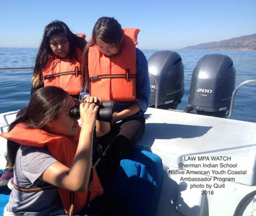
[[[197,63],[190,84],[189,104],[184,112],[226,117],[234,91],[236,70],[227,55],[203,56]]]

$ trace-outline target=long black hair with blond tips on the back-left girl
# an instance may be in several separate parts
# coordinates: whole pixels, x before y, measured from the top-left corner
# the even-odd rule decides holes
[[[42,69],[46,66],[46,62],[48,60],[48,55],[52,55],[52,50],[50,48],[50,39],[52,36],[64,34],[67,36],[69,40],[69,60],[72,58],[77,59],[75,50],[76,48],[80,48],[82,51],[85,48],[86,41],[82,37],[78,37],[74,35],[70,30],[67,24],[61,22],[59,20],[55,20],[54,22],[46,25],[43,33],[43,40],[40,44],[40,48],[38,50],[38,55],[35,59],[35,68],[33,72],[33,87],[38,87],[42,85],[43,75]]]

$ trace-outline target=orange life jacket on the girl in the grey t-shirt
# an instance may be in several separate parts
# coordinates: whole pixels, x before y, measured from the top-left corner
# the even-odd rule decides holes
[[[67,137],[64,135],[55,135],[45,130],[27,128],[25,123],[16,125],[10,132],[3,132],[1,137],[7,138],[14,142],[20,143],[20,145],[34,146],[38,148],[48,148],[51,156],[54,156],[57,161],[63,163],[65,166],[70,167],[74,160],[74,155],[77,151],[77,145],[80,136],[79,132],[74,137]],[[101,182],[98,179],[98,175],[93,168],[93,186],[90,192],[90,201],[103,194]],[[88,190],[90,182],[88,183],[87,192],[75,192],[74,193],[74,212],[80,212],[85,204],[88,202]],[[59,195],[61,197],[62,204],[65,212],[69,212],[70,197],[72,194],[66,190],[59,188]]]

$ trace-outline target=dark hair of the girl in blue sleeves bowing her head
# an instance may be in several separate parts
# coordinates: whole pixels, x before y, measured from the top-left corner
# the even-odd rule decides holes
[[[121,24],[114,17],[101,17],[93,27],[93,36],[85,46],[82,53],[82,84],[87,83],[88,73],[88,51],[89,48],[96,44],[96,37],[106,43],[114,43],[116,48],[121,48],[121,39],[124,35]]]

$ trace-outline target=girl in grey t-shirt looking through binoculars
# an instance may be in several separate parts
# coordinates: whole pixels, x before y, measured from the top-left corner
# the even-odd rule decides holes
[[[55,86],[35,91],[25,113],[12,122],[9,132],[1,134],[20,143],[14,189],[4,215],[62,215],[72,210],[77,213],[88,200],[102,194],[101,183],[92,169],[97,101],[91,97],[80,104],[79,127],[77,118],[70,115],[76,104],[67,91]],[[98,128],[96,135],[108,132],[106,127]],[[72,204],[70,197],[74,197]]]

